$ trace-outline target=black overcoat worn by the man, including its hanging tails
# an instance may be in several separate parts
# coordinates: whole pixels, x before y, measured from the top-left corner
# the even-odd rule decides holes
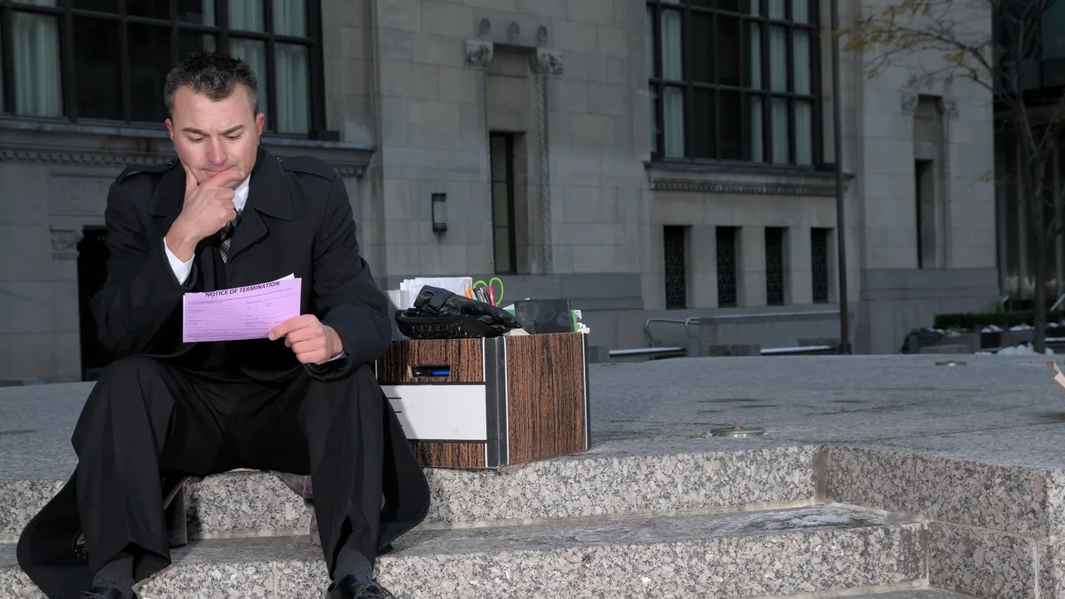
[[[93,311],[99,339],[116,358],[177,357],[194,346],[181,341],[181,304],[189,291],[212,290],[210,248],[201,244],[197,249],[191,277],[182,286],[163,247],[167,230],[181,212],[184,187],[185,173],[177,160],[130,166],[111,185],[104,214],[108,275],[93,298]],[[226,287],[290,274],[301,278],[302,313],[314,313],[332,326],[348,355],[346,360],[314,369],[300,365],[281,342],[243,341],[235,358],[251,378],[285,378],[300,368],[323,381],[344,378],[375,361],[388,347],[392,338],[388,300],[359,254],[344,182],[325,162],[311,157],[280,158],[260,148],[228,255]],[[383,550],[425,518],[429,493],[395,411],[376,384],[373,392],[380,393],[386,406],[381,423],[384,509],[378,540]],[[85,561],[72,547],[80,531],[77,475],[76,469],[26,528],[18,545],[19,565],[52,599],[80,597],[89,577]]]

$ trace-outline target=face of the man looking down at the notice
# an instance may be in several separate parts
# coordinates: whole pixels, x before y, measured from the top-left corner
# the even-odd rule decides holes
[[[183,86],[174,95],[174,115],[166,119],[166,128],[181,163],[203,183],[230,166],[251,173],[264,118],[251,109],[243,85],[216,102]],[[237,185],[240,181],[230,187]]]

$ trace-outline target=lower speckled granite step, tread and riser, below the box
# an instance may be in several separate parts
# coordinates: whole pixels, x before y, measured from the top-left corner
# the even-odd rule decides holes
[[[174,558],[141,597],[323,596],[325,567],[306,536],[197,540]],[[922,523],[841,505],[416,530],[378,566],[405,599],[857,595],[921,586],[927,570]],[[0,588],[43,599],[10,545]]]

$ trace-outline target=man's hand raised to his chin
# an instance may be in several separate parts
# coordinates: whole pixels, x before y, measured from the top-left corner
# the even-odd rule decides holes
[[[184,206],[166,233],[166,246],[180,260],[187,261],[200,240],[218,232],[236,217],[233,188],[246,175],[240,167],[230,166],[199,184],[187,166],[181,167],[185,169]]]

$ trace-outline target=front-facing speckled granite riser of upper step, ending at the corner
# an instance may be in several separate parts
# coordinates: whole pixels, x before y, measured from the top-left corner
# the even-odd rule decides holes
[[[703,442],[707,441],[707,442]],[[425,525],[793,506],[814,502],[816,446],[693,440],[641,455],[625,444],[502,470],[428,469]],[[646,452],[646,448],[641,448]],[[11,543],[63,485],[0,480],[0,543]],[[302,499],[277,476],[233,471],[187,489],[191,538],[305,534]]]

